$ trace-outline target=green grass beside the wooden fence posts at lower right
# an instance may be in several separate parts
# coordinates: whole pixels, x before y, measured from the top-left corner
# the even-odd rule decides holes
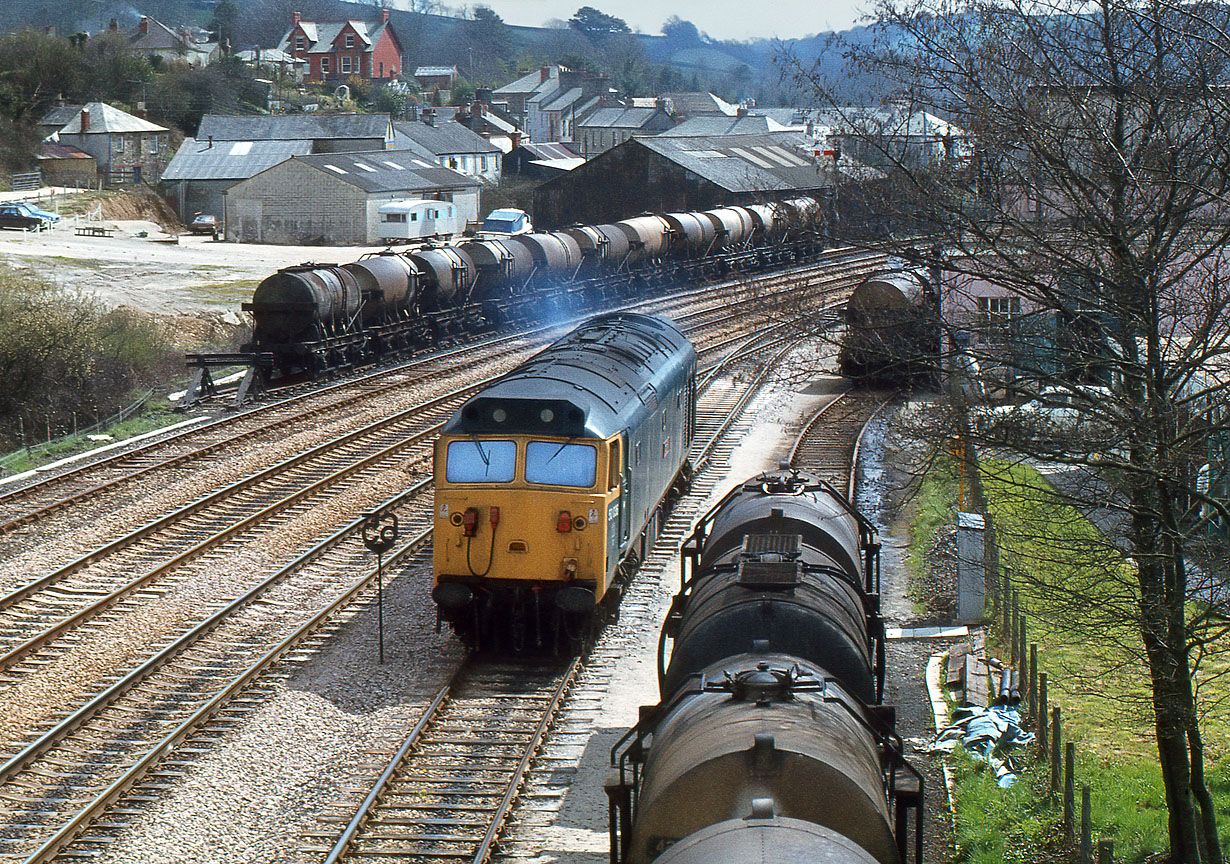
[[[1039,668],[1052,681],[1050,704],[1061,709],[1064,740],[1076,742],[1077,789],[1091,788],[1093,838],[1113,838],[1116,862],[1149,860],[1168,843],[1149,676],[1130,618],[1132,572],[1033,468],[986,463],[983,485],[1004,561],[1016,571],[1028,639],[1038,642]],[[938,464],[914,502],[911,572],[927,566],[935,530],[953,523],[954,498],[953,468]],[[1230,639],[1223,636],[1216,647],[1220,652],[1203,660],[1197,679],[1205,709],[1205,767],[1223,847],[1230,849]],[[957,761],[957,777],[959,860],[1066,860],[1060,805],[1048,795],[1048,763],[1032,763],[1011,789],[1000,789],[968,757]]]

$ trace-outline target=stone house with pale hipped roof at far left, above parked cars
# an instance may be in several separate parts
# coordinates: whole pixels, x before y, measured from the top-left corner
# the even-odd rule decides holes
[[[62,106],[53,108],[53,114],[59,128],[48,135],[48,143],[69,144],[93,156],[98,176],[108,185],[155,183],[162,176],[171,146],[165,126],[105,102]]]

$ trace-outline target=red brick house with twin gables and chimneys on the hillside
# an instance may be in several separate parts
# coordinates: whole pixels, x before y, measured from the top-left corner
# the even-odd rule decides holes
[[[391,81],[401,75],[401,42],[389,22],[389,10],[376,21],[304,21],[290,15],[290,30],[278,49],[308,60],[312,81],[365,78]]]

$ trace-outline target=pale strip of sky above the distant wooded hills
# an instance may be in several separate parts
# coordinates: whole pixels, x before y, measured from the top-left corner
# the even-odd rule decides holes
[[[445,0],[445,5],[455,5]],[[868,0],[471,0],[491,6],[506,22],[541,27],[551,18],[567,21],[582,6],[627,21],[629,27],[656,34],[672,15],[691,21],[715,39],[784,39],[829,30],[846,30]]]

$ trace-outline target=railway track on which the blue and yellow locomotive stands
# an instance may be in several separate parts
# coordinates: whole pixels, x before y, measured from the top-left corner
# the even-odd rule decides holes
[[[721,468],[737,442],[732,428],[759,391],[774,362],[791,347],[786,326],[713,346],[726,352],[702,372],[696,406],[696,439],[690,459],[697,466],[692,490],[676,502],[661,527],[658,539],[620,606],[620,615],[643,617],[649,603],[642,596],[653,576],[674,558],[700,506],[712,491]],[[732,350],[733,348],[733,350]],[[756,373],[737,378],[732,368],[771,354]],[[432,700],[406,740],[390,757],[370,791],[349,816],[333,815],[305,839],[331,846],[309,846],[326,864],[362,860],[399,860],[407,864],[456,862],[485,864],[513,802],[528,779],[531,761],[544,746],[563,708],[565,697],[582,670],[593,665],[611,670],[615,652],[599,639],[592,655],[563,670],[462,663]]]

